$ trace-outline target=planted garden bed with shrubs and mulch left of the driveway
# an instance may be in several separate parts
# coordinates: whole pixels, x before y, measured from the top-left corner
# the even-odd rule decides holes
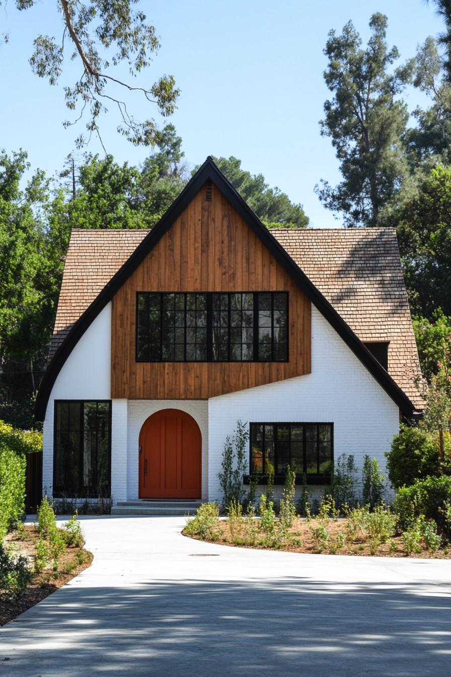
[[[37,524],[18,523],[0,544],[0,626],[66,585],[93,561],[76,515],[57,528],[44,500]]]

